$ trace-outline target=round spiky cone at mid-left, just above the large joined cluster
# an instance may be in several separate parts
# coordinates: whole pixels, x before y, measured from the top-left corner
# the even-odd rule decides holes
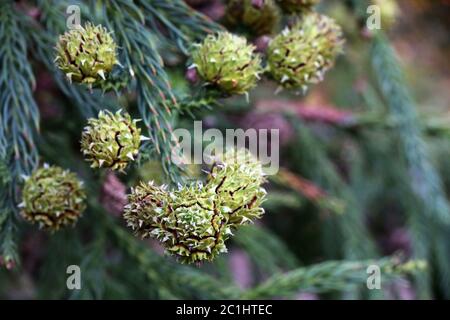
[[[92,168],[123,171],[139,153],[141,130],[128,113],[100,111],[88,120],[81,136],[81,151]]]

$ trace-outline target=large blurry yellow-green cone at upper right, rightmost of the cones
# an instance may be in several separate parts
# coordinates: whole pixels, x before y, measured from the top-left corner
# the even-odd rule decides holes
[[[307,14],[269,44],[269,73],[284,88],[306,90],[323,80],[343,44],[342,30],[333,19]]]

